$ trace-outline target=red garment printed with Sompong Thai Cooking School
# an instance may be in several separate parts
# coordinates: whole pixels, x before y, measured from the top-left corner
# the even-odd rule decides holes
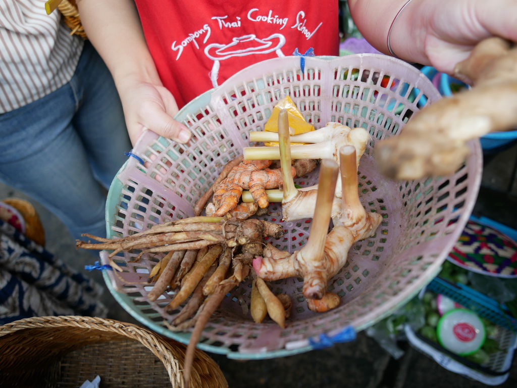
[[[181,108],[268,58],[337,55],[338,1],[136,0],[160,78]],[[259,4],[260,3],[260,4]]]

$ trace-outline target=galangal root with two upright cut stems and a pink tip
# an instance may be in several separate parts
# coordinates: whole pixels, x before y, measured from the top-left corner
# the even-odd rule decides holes
[[[341,213],[333,218],[332,231],[327,235],[339,167],[333,160],[326,159],[322,161],[318,181],[318,211],[314,214],[306,245],[292,254],[267,245],[263,257],[253,260],[258,277],[264,280],[302,277],[306,299],[322,299],[327,281],[346,263],[348,250],[356,241],[375,233],[382,216],[367,213],[359,201],[356,152],[353,146],[341,148],[340,167]]]

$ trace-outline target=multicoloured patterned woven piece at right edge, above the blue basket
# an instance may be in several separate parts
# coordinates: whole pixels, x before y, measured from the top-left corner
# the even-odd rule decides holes
[[[517,276],[517,244],[503,233],[468,221],[449,260],[487,275]]]

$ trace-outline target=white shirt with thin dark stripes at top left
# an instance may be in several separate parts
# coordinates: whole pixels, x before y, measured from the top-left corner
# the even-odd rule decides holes
[[[83,40],[70,36],[43,0],[0,0],[0,113],[23,107],[70,81]]]

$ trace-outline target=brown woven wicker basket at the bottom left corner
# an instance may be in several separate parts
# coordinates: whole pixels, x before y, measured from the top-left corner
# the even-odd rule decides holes
[[[183,387],[185,346],[110,319],[33,317],[0,326],[0,386],[73,387],[99,375],[101,386]],[[193,387],[227,387],[210,357],[196,350]]]

